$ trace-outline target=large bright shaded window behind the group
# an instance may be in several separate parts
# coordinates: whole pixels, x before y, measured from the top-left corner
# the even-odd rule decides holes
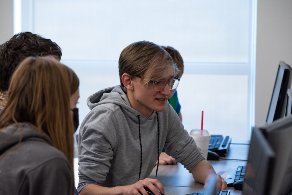
[[[50,38],[80,79],[86,99],[120,83],[118,59],[130,43],[176,48],[185,62],[178,91],[185,129],[249,139],[254,124],[256,0],[22,0],[22,27]]]

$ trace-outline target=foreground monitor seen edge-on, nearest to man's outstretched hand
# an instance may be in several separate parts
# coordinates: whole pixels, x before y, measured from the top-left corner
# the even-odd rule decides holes
[[[272,169],[276,154],[259,130],[253,128],[250,140],[249,157],[246,165],[243,195],[269,194]]]

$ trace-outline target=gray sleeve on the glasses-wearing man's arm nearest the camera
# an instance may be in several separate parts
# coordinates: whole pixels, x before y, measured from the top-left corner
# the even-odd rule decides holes
[[[116,145],[116,129],[115,116],[108,107],[97,106],[85,117],[78,137],[78,192],[105,181]]]

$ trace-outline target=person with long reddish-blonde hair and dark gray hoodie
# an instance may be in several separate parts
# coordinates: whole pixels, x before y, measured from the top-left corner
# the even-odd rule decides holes
[[[13,73],[0,114],[0,194],[74,194],[70,72],[47,56]]]

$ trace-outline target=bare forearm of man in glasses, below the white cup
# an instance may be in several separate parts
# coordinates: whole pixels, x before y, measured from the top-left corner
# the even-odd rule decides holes
[[[196,182],[203,184],[205,184],[206,179],[209,175],[216,174],[210,162],[206,160],[202,160],[198,164],[196,164],[196,166],[192,168],[191,173]]]

